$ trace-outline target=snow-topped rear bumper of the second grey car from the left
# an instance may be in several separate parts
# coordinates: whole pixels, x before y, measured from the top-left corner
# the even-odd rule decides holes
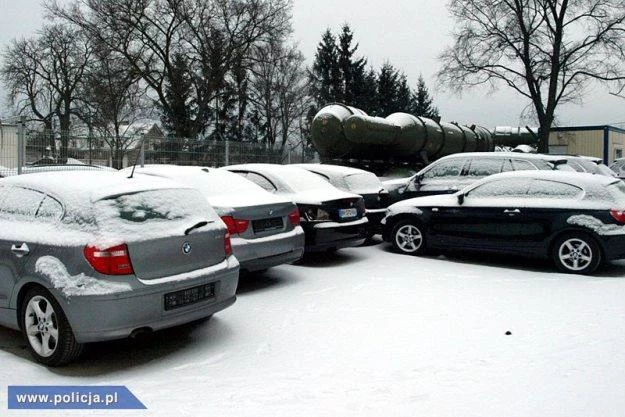
[[[296,227],[290,232],[257,239],[232,238],[232,250],[241,269],[257,271],[293,262],[304,253],[304,231]]]

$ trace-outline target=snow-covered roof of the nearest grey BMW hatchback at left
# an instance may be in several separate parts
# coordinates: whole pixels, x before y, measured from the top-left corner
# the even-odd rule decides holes
[[[136,176],[127,172],[54,171],[3,178],[0,185],[15,185],[41,191],[62,201],[96,201],[102,198],[141,191],[190,188],[164,178]]]

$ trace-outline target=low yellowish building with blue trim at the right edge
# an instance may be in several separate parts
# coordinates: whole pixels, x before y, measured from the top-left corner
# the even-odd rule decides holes
[[[595,156],[606,165],[625,156],[625,129],[611,125],[556,127],[549,135],[550,154]]]

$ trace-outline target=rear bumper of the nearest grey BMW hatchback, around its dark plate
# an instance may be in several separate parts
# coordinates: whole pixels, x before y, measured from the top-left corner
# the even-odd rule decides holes
[[[236,300],[239,264],[231,256],[192,279],[149,285],[135,281],[133,289],[123,293],[71,297],[55,293],[79,343],[121,339],[137,329],[165,329],[221,311]],[[209,283],[215,284],[212,298],[165,310],[165,294]]]

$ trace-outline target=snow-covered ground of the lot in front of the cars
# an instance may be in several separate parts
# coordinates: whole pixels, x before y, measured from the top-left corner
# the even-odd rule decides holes
[[[622,416],[625,262],[415,258],[386,244],[243,278],[210,321],[33,362],[0,329],[0,385],[126,385],[149,416]],[[506,332],[510,331],[510,335]],[[0,414],[60,412],[7,410]]]

